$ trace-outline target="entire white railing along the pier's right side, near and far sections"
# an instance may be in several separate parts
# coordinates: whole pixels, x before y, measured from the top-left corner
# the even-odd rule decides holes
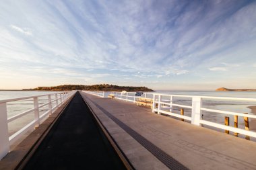
[[[94,95],[104,93],[103,91],[101,92],[85,91],[85,92],[94,93]],[[208,113],[217,113],[222,116],[238,116],[238,118],[240,117],[240,119],[242,117],[242,120],[245,117],[256,119],[256,115],[243,114],[243,113],[233,112],[233,111],[216,110],[216,109],[206,108],[203,105],[203,101],[247,102],[247,103],[250,103],[250,105],[256,105],[255,98],[168,95],[168,94],[162,94],[162,93],[143,93],[143,95],[141,96],[135,96],[135,92],[121,93],[121,92],[115,92],[115,91],[111,92],[111,94],[115,95],[115,99],[131,101],[133,103],[135,103],[137,98],[141,98],[141,97],[152,99],[152,112],[157,112],[158,114],[166,114],[169,116],[174,116],[176,118],[181,118],[197,126],[201,126],[201,125],[212,126],[214,128],[229,130],[234,133],[244,134],[246,136],[251,136],[256,138],[256,132],[253,132],[251,130],[245,130],[245,128],[239,128],[239,127],[235,128],[232,126],[226,126],[224,124],[212,122],[210,120],[203,120],[202,118],[202,112],[208,112]],[[98,95],[98,96],[103,97],[104,95]],[[186,101],[186,102],[181,103],[179,101]],[[174,113],[173,112],[174,107],[185,108],[190,112],[190,114],[181,115],[181,114]]]

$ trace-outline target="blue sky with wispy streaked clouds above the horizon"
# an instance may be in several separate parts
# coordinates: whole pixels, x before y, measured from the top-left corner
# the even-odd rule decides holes
[[[0,89],[256,89],[256,1],[0,3]]]

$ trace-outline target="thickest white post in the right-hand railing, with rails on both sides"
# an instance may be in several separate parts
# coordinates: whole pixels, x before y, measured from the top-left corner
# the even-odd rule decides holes
[[[201,97],[193,97],[192,98],[191,124],[200,126],[201,105],[202,105]]]

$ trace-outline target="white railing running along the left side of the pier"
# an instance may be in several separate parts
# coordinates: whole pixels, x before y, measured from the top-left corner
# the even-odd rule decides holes
[[[9,153],[10,146],[17,140],[19,140],[26,132],[29,130],[33,130],[40,126],[40,124],[46,120],[46,118],[51,115],[59,106],[61,106],[69,97],[73,96],[75,91],[68,91],[68,92],[59,92],[59,93],[51,93],[46,95],[34,95],[29,97],[20,97],[15,99],[5,99],[0,100],[0,160]],[[46,103],[40,102],[42,97],[47,97]],[[11,116],[7,118],[7,105],[13,101],[24,101],[27,99],[32,99],[33,101],[33,108],[30,110],[26,110],[20,114],[15,114],[15,116]],[[41,99],[42,100],[42,99]],[[47,109],[45,109],[47,107]],[[40,112],[40,109],[43,109]],[[46,110],[46,112],[44,112]],[[26,124],[26,126],[22,127],[20,130],[11,134],[9,136],[8,131],[8,124],[13,122],[13,120],[17,120],[22,116],[26,116],[30,113],[34,112],[34,120]]]

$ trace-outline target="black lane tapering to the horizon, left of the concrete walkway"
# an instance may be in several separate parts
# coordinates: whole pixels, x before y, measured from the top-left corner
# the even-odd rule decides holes
[[[24,169],[125,169],[77,92]]]

